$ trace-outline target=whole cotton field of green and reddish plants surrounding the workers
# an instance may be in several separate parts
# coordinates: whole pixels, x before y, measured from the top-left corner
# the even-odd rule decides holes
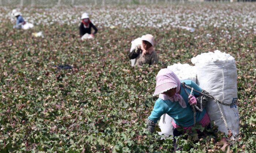
[[[255,3],[80,1],[61,0],[59,6],[57,0],[40,6],[37,1],[31,7],[24,0],[20,7],[19,0],[1,0],[0,152],[170,152],[172,138],[143,135],[157,99],[155,76],[161,68],[192,65],[193,56],[217,49],[235,58],[238,73],[240,136],[224,152],[256,151]],[[16,7],[33,29],[12,28]],[[83,12],[99,30],[86,42],[78,30]],[[39,31],[44,38],[31,35]],[[133,68],[131,41],[148,33],[155,37],[159,64]],[[57,70],[60,64],[74,68]],[[222,136],[178,142],[187,152],[223,152],[217,143]]]

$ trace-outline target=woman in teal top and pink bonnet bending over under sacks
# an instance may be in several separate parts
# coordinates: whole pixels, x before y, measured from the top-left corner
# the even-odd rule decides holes
[[[173,118],[173,137],[180,136],[177,127],[182,127],[185,130],[191,131],[194,125],[194,111],[192,105],[197,104],[197,101],[202,98],[203,103],[208,102],[208,98],[195,91],[191,93],[191,89],[184,88],[182,82],[193,89],[207,94],[195,82],[191,80],[184,80],[180,82],[177,75],[173,71],[163,68],[156,77],[157,85],[153,95],[158,95],[159,98],[155,102],[154,109],[147,119],[147,130],[154,132],[155,124],[163,114],[168,114]],[[187,92],[185,91],[187,90]],[[189,95],[188,95],[189,94]],[[210,118],[204,109],[196,111],[196,122],[206,127],[210,123]],[[174,138],[174,149],[176,150],[176,140]]]

